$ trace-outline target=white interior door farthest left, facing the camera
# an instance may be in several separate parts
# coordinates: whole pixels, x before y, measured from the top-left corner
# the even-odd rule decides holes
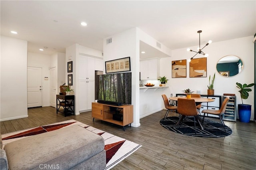
[[[28,108],[42,106],[42,68],[28,67]]]

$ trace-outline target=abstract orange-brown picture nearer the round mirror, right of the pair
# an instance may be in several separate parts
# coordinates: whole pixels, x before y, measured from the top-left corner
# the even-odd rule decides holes
[[[207,77],[207,57],[196,58],[190,61],[189,77]]]

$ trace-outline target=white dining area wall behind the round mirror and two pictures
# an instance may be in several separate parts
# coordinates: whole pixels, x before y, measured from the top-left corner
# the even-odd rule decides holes
[[[254,83],[254,44],[252,43],[253,36],[228,40],[223,42],[211,43],[204,48],[204,52],[209,54],[207,58],[207,77],[190,78],[189,77],[189,63],[187,63],[187,77],[186,78],[172,78],[172,61],[180,59],[190,59],[195,53],[186,51],[186,48],[172,50],[172,57],[160,60],[160,74],[166,75],[170,91],[174,95],[182,93],[182,90],[190,88],[192,91],[200,90],[201,94],[207,94],[207,85],[209,85],[209,75],[216,73],[214,81],[214,93],[216,95],[223,95],[223,93],[235,93],[237,104],[242,103],[240,93],[236,87],[236,82],[239,83]],[[197,47],[189,47],[190,49],[197,49]],[[234,77],[222,77],[216,70],[216,63],[218,60],[226,55],[236,55],[241,58],[244,69]],[[195,58],[203,57],[203,55],[196,55]],[[249,92],[249,98],[244,100],[245,104],[252,105],[251,120],[254,119],[254,89]],[[238,113],[237,113],[238,114]]]

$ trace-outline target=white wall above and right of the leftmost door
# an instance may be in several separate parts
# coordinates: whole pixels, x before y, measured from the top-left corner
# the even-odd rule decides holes
[[[42,68],[42,107],[50,106],[50,61],[50,55],[28,52],[28,66]]]

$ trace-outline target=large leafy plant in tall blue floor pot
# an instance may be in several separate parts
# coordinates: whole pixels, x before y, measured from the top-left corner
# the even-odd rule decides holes
[[[248,99],[249,97],[248,92],[252,91],[252,89],[250,89],[249,87],[252,87],[254,85],[255,85],[254,83],[251,83],[249,85],[247,84],[242,85],[241,83],[236,82],[236,87],[240,89],[238,92],[240,93],[240,96],[242,99],[242,104],[238,104],[238,115],[239,115],[239,120],[244,123],[250,122],[252,105],[244,104],[243,99]]]

